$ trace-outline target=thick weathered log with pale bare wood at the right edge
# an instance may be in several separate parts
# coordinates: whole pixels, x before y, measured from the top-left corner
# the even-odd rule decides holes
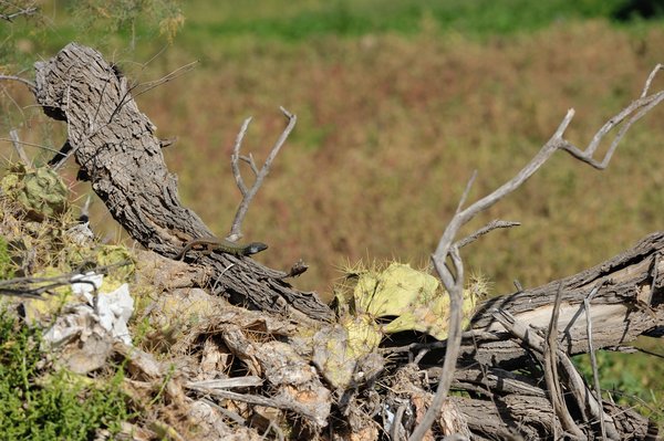
[[[473,318],[473,328],[502,330],[494,318],[496,308],[517,319],[546,328],[558,285],[562,283],[562,306],[558,328],[568,354],[588,349],[587,314],[583,298],[599,287],[591,302],[593,346],[611,347],[634,340],[640,335],[657,334],[664,327],[664,232],[641,240],[622,254],[577,275],[499,296],[485,303]]]

